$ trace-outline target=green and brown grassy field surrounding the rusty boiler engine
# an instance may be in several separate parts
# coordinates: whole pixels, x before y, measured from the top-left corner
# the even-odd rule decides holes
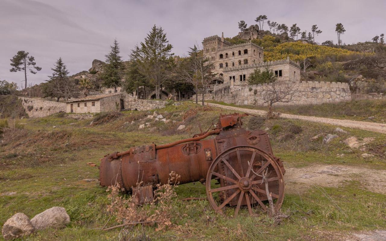
[[[218,120],[220,112],[226,111],[185,103],[158,112],[174,122],[145,119],[152,114],[149,111],[99,115],[94,119],[98,125],[90,125],[90,119],[57,115],[19,120],[18,129],[3,133],[0,147],[0,225],[16,212],[32,218],[45,209],[60,206],[71,217],[68,227],[37,232],[30,240],[146,240],[146,236],[151,240],[341,240],[352,232],[386,228],[385,190],[371,191],[366,188],[366,178],[353,176],[333,186],[288,182],[281,212],[289,217],[280,222],[264,213],[249,217],[245,209],[235,219],[225,218],[205,200],[181,201],[186,197],[206,197],[205,186],[190,183],[176,187],[167,229],[137,225],[101,231],[105,224],[109,227],[119,223],[114,217],[109,219],[106,206],[110,200],[106,188],[97,181],[98,169],[86,162],[99,164],[98,160],[107,153],[191,137],[200,132],[197,123],[206,129]],[[144,123],[149,123],[149,127],[138,130]],[[266,129],[274,153],[291,170],[315,165],[386,169],[386,135],[380,133],[344,128],[348,133],[337,133],[339,137],[323,144],[323,137],[315,141],[310,138],[334,133],[335,126],[261,117],[247,117],[244,123],[248,129]],[[180,124],[186,125],[185,130],[176,130]],[[342,143],[350,136],[374,139],[362,150],[351,149]],[[364,152],[374,157],[364,159]],[[293,173],[286,175],[290,174]]]

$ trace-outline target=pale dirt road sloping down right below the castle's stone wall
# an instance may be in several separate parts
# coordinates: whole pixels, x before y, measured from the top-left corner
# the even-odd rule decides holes
[[[209,106],[216,106],[223,109],[231,109],[234,111],[250,113],[252,115],[265,115],[267,113],[267,111],[262,111],[257,109],[246,109],[246,108],[224,106],[222,104],[213,104],[213,103],[206,103],[206,104]],[[284,113],[282,113],[280,116],[283,118],[289,118],[289,119],[313,121],[313,122],[325,123],[330,125],[338,125],[338,126],[344,126],[349,128],[357,128],[362,130],[370,130],[373,132],[386,133],[386,124],[375,123],[375,122],[371,123],[371,122],[365,122],[365,121],[339,120],[339,119],[323,118],[323,117],[315,117],[315,116],[290,115],[290,114],[284,114]]]

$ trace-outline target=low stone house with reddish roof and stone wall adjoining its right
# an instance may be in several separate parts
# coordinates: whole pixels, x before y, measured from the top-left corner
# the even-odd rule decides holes
[[[102,94],[68,101],[67,113],[99,113],[123,109],[148,110],[165,107],[164,101],[137,99],[125,93]]]

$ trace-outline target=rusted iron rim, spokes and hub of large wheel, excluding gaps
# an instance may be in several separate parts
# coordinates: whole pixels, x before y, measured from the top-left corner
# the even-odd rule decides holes
[[[239,172],[235,171],[234,166],[230,164],[226,160],[226,157],[229,156],[230,154],[235,153],[237,154],[237,164],[239,166],[242,166],[242,161],[249,161],[248,162],[248,168],[246,172],[244,172],[243,168],[239,170]],[[240,152],[251,152],[251,159],[250,160],[242,160]],[[256,156],[260,155],[261,157],[264,158],[265,163],[261,162],[261,166],[257,171],[253,171],[254,164],[257,162],[255,161]],[[220,173],[217,173],[215,170],[218,169],[218,164],[222,162],[235,176],[235,179],[232,179],[230,177],[224,176]],[[261,188],[257,187],[258,183],[262,183],[262,178],[255,179],[258,177],[256,174],[261,174],[263,171],[267,170],[267,168],[272,167],[271,169],[274,170],[270,178],[267,178],[267,182],[275,182],[274,185],[276,184],[278,186],[278,193],[271,193],[271,197],[276,199],[276,203],[274,204],[274,209],[277,211],[280,209],[281,204],[283,203],[284,199],[284,178],[283,174],[281,173],[281,170],[279,168],[279,165],[277,164],[276,161],[274,161],[274,158],[267,154],[266,152],[257,149],[255,147],[251,146],[236,146],[236,147],[231,147],[224,152],[222,152],[220,155],[217,156],[215,161],[212,162],[210,165],[210,168],[207,173],[207,179],[206,179],[206,191],[207,191],[207,197],[210,205],[212,208],[220,213],[223,213],[223,208],[231,202],[234,198],[238,200],[237,206],[235,209],[234,217],[237,216],[239,213],[240,207],[242,200],[245,198],[245,202],[247,204],[248,212],[250,215],[253,215],[252,211],[252,205],[251,205],[251,199],[252,203],[258,203],[257,206],[260,206],[264,211],[268,209],[268,207],[261,201],[261,199],[258,197],[259,193],[263,193],[266,195],[266,191],[262,190]],[[245,173],[245,175],[244,175]],[[273,177],[272,177],[273,176]],[[223,181],[227,181],[228,183],[232,183],[232,185],[226,185],[222,186],[220,188],[211,188],[211,180],[212,177],[218,178],[218,179],[223,179]],[[213,193],[225,191],[225,190],[230,190],[234,189],[234,193],[230,195],[230,197],[227,197],[225,200],[220,201],[220,205],[217,205],[215,199],[213,198]],[[257,193],[257,194],[256,194]]]

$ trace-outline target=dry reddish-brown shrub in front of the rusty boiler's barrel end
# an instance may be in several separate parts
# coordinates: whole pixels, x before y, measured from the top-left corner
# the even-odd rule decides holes
[[[149,205],[143,206],[138,205],[138,200],[134,194],[129,198],[120,194],[122,188],[119,184],[109,186],[106,191],[110,192],[108,198],[111,200],[111,204],[107,205],[107,211],[124,226],[132,226],[138,222],[143,224],[157,223],[157,231],[165,230],[173,225],[171,218],[174,216],[174,205],[172,204],[173,199],[177,197],[174,188],[178,186],[180,177],[180,175],[171,172],[168,183],[157,184],[154,200]],[[137,183],[137,185],[141,185],[141,183]]]

